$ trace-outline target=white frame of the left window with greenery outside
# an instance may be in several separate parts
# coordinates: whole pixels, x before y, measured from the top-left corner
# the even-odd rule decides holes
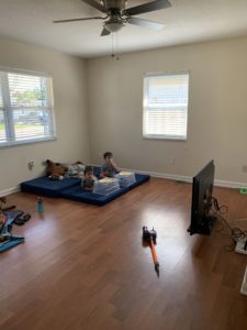
[[[33,76],[40,79],[45,79],[45,88],[46,88],[46,98],[45,101],[48,103],[45,106],[16,106],[11,105],[11,90],[9,88],[9,79],[8,74],[16,74],[23,76]],[[12,146],[21,146],[26,144],[33,144],[37,142],[46,142],[54,141],[57,139],[56,135],[56,121],[55,121],[55,110],[54,110],[54,88],[53,88],[53,78],[52,75],[41,72],[33,72],[26,69],[19,69],[12,67],[3,67],[0,66],[0,92],[2,95],[2,106],[0,105],[0,111],[3,114],[3,124],[5,130],[5,141],[0,142],[0,148],[12,147]],[[31,110],[35,111],[48,111],[49,123],[47,124],[49,135],[46,136],[25,136],[23,140],[18,140],[14,133],[14,111],[16,110]],[[45,130],[45,125],[44,130]]]

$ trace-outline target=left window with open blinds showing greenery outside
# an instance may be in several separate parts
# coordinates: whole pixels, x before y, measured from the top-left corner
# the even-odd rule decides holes
[[[52,78],[0,69],[0,147],[54,139]]]

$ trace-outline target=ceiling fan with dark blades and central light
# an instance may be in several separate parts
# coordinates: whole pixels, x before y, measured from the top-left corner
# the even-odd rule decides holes
[[[97,0],[81,0],[82,2],[98,9],[105,16],[92,16],[92,18],[81,18],[81,19],[69,19],[69,20],[59,20],[53,21],[54,23],[67,23],[75,21],[88,21],[88,20],[103,20],[103,30],[101,36],[109,35],[112,32],[117,32],[122,29],[125,23],[150,28],[154,30],[161,30],[164,24],[138,19],[133,15],[138,15],[145,12],[156,11],[165,8],[171,7],[168,0],[156,0],[151,2],[146,2],[136,7],[127,8],[126,0],[102,0],[98,2]]]

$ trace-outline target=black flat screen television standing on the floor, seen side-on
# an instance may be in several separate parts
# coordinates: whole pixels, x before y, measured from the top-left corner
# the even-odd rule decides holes
[[[206,164],[194,177],[192,184],[190,234],[210,234],[216,220],[210,215],[214,187],[214,161]]]

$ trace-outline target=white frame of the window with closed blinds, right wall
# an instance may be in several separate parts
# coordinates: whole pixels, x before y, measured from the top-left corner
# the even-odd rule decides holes
[[[149,107],[148,106],[148,78],[156,77],[170,77],[170,76],[188,76],[188,94],[187,94],[187,105],[184,111],[186,121],[184,121],[184,135],[171,135],[171,134],[148,134],[146,132],[146,118],[148,116],[149,109],[165,109],[166,107]],[[145,74],[143,77],[143,139],[145,140],[167,140],[167,141],[187,141],[188,140],[188,112],[189,112],[189,89],[190,89],[190,72],[180,70],[180,72],[167,72],[167,73],[157,73],[157,74]],[[182,105],[182,103],[181,103]],[[167,107],[168,108],[168,107]]]

